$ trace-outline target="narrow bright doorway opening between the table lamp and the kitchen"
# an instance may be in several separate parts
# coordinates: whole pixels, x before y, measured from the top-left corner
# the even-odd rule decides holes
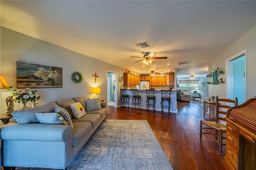
[[[116,76],[117,73],[113,71],[108,71],[108,91],[107,91],[107,103],[108,106],[114,106],[116,107]]]

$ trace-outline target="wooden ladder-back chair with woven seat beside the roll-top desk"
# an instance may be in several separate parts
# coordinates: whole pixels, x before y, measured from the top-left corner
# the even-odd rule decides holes
[[[202,134],[214,142],[219,144],[219,154],[222,151],[222,139],[223,133],[226,132],[226,111],[232,107],[238,105],[237,97],[235,100],[230,99],[219,99],[216,97],[216,117],[215,121],[200,121],[200,140],[202,139]],[[219,138],[219,140],[218,140]]]

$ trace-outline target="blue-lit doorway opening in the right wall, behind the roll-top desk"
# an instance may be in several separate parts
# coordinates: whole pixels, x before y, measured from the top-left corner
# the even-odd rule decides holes
[[[226,60],[227,98],[238,98],[238,105],[246,101],[246,50]]]

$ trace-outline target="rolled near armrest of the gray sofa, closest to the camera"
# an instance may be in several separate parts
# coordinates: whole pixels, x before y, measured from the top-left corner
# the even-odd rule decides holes
[[[9,123],[1,127],[2,140],[65,142],[72,140],[72,128],[66,125]]]

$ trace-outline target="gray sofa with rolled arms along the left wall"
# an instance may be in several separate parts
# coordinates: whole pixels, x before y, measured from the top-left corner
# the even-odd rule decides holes
[[[86,110],[85,99],[76,97],[14,111],[12,115],[18,123],[9,123],[0,129],[2,166],[66,169],[106,118],[106,102],[101,102],[100,110],[86,111],[86,115],[76,119],[70,104],[80,102]],[[68,111],[73,129],[37,120],[36,113],[53,113],[56,105]]]

